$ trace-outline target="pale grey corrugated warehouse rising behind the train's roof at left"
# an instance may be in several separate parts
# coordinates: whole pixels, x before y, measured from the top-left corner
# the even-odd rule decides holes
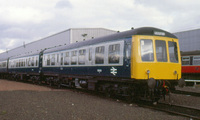
[[[0,59],[5,59],[12,56],[20,56],[35,53],[45,48],[68,45],[70,43],[92,39],[92,37],[100,37],[108,34],[116,33],[116,31],[104,28],[75,28],[54,34],[52,36],[25,44],[15,49],[9,50],[0,54]]]

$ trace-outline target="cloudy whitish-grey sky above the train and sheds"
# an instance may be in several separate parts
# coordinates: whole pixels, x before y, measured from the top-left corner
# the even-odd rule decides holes
[[[0,0],[0,53],[69,28],[200,28],[199,0]]]

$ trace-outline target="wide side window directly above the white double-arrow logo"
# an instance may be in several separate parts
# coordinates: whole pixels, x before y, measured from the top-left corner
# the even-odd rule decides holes
[[[120,44],[109,45],[108,63],[119,63],[120,59]]]

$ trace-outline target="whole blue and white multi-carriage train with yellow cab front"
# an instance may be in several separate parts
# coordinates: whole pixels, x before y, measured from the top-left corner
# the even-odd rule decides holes
[[[2,78],[153,100],[184,83],[177,37],[151,27],[2,59],[0,72]]]

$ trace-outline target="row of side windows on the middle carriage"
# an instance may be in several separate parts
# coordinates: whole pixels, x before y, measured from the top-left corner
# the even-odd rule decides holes
[[[9,60],[10,68],[37,67],[38,56]]]

